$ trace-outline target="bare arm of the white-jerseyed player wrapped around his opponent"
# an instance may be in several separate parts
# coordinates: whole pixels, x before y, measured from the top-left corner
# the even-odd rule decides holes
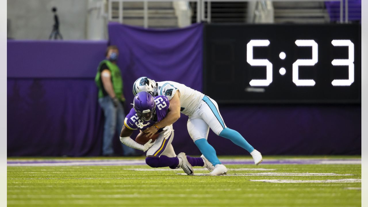
[[[180,92],[177,91],[173,98],[170,100],[169,112],[167,112],[166,116],[156,124],[156,126],[161,129],[165,126],[169,126],[176,122],[180,118]],[[147,133],[146,137],[152,137],[158,131],[154,126],[151,126],[144,130],[144,133]]]

